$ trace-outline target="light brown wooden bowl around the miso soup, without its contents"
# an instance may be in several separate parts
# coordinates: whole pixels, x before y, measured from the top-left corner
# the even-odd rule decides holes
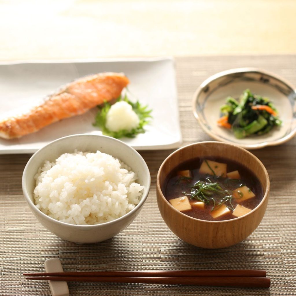
[[[223,157],[236,161],[260,180],[263,199],[247,215],[225,221],[205,221],[189,217],[170,205],[161,188],[168,174],[179,164],[197,157]],[[171,231],[189,244],[197,247],[216,249],[241,242],[248,237],[261,222],[266,211],[269,195],[269,177],[260,160],[247,150],[236,145],[221,142],[200,142],[182,147],[169,155],[157,173],[157,203],[163,220]]]

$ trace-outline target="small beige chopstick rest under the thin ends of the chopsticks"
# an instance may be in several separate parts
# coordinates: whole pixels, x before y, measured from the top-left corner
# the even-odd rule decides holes
[[[44,261],[46,272],[63,272],[62,263],[59,258],[48,259]],[[52,296],[69,296],[67,281],[48,281]]]

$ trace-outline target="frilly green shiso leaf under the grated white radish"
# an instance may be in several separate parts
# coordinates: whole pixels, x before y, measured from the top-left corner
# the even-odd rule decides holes
[[[149,123],[150,118],[152,116],[150,113],[152,110],[148,109],[148,106],[141,105],[139,101],[131,102],[128,99],[127,94],[125,94],[123,97],[120,96],[116,102],[119,101],[125,101],[128,104],[131,105],[133,108],[133,111],[138,115],[139,117],[139,125],[136,128],[133,128],[131,131],[127,130],[120,130],[120,131],[109,131],[108,128],[106,128],[106,120],[107,120],[107,113],[110,110],[111,104],[108,102],[104,102],[103,106],[98,106],[99,111],[96,114],[95,122],[93,126],[99,127],[102,130],[103,135],[110,136],[116,139],[127,137],[127,138],[134,138],[139,133],[145,133],[144,126]]]

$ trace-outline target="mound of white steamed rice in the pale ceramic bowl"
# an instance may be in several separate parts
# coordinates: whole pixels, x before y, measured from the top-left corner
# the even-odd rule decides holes
[[[92,225],[117,219],[131,211],[144,186],[126,164],[111,155],[65,153],[46,161],[34,177],[36,207],[62,222]]]

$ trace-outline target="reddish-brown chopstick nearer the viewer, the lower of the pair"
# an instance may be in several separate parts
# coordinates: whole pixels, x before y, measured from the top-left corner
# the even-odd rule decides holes
[[[27,277],[32,280],[44,281],[92,281],[92,282],[116,282],[116,283],[145,283],[145,284],[173,284],[195,285],[212,287],[270,287],[270,278],[267,277],[195,277],[195,276],[171,276],[171,277],[127,277],[127,276],[46,276]]]

